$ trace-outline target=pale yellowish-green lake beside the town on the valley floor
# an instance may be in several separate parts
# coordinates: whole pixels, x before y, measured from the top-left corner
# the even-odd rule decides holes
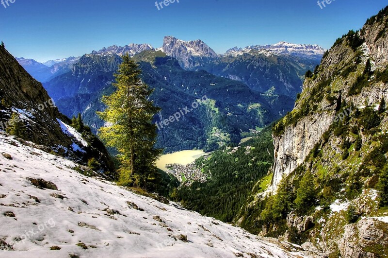
[[[166,155],[162,155],[159,158],[159,160],[156,162],[156,166],[158,167],[158,169],[166,171],[167,164],[176,163],[181,165],[187,165],[192,163],[195,159],[206,154],[207,153],[204,153],[202,150],[189,150],[189,151],[175,152],[172,154],[166,154]]]

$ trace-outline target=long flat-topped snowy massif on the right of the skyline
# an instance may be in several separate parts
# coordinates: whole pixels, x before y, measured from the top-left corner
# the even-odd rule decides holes
[[[268,50],[275,54],[289,54],[292,56],[299,56],[304,58],[321,59],[325,49],[319,45],[306,45],[306,44],[292,44],[281,41],[274,45],[255,45],[245,48],[234,47],[226,51],[224,55],[242,55],[244,53],[252,52],[252,50]]]

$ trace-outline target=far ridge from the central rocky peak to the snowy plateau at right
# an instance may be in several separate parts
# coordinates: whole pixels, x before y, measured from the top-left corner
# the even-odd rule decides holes
[[[302,79],[322,59],[324,50],[316,45],[276,45],[230,49],[217,55],[201,40],[183,41],[164,37],[162,51],[178,59],[187,70],[206,70],[216,76],[242,82],[250,88],[295,98]]]

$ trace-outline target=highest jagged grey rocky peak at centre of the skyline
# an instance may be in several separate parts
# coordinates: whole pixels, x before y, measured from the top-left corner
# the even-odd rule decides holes
[[[200,67],[204,61],[219,57],[202,40],[183,41],[173,36],[164,37],[162,51],[176,58],[184,69],[195,69]]]

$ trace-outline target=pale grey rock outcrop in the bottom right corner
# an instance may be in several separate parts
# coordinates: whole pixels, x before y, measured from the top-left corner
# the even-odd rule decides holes
[[[357,224],[345,226],[345,233],[339,240],[339,251],[343,258],[374,258],[387,255],[388,223],[375,219],[362,219]],[[371,252],[371,250],[381,250]],[[377,256],[376,256],[377,255]]]

